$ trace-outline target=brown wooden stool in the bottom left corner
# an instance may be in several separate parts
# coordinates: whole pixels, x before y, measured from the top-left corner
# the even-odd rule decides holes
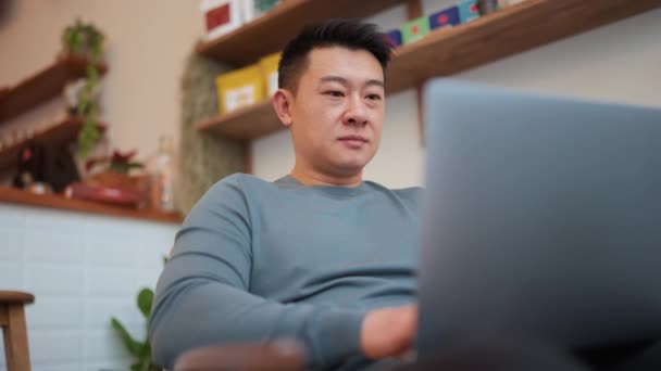
[[[0,327],[4,334],[4,355],[8,371],[29,371],[25,304],[35,296],[17,291],[0,291]]]

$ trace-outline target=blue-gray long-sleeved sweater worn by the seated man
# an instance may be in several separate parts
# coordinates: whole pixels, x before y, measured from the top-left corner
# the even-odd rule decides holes
[[[153,358],[223,342],[295,338],[309,367],[361,357],[370,309],[415,300],[420,189],[305,187],[233,175],[176,235],[149,322]]]

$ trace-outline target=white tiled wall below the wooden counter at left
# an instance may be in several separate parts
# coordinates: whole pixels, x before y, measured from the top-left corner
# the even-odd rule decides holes
[[[155,285],[176,230],[174,225],[0,204],[0,290],[36,297],[26,308],[33,370],[127,370],[130,358],[110,318],[145,336],[136,295]]]

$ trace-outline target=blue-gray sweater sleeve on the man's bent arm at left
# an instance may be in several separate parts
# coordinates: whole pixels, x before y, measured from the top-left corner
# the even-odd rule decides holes
[[[149,336],[154,361],[215,343],[295,338],[310,367],[360,354],[362,310],[282,304],[249,293],[251,226],[239,176],[216,183],[177,233],[157,285]]]

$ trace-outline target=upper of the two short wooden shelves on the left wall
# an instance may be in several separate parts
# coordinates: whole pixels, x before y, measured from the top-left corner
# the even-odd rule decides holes
[[[107,66],[97,65],[99,73],[104,75]],[[0,91],[0,125],[25,113],[34,106],[55,98],[62,93],[66,82],[85,77],[87,59],[84,56],[67,56],[36,75],[18,82],[7,91]]]

